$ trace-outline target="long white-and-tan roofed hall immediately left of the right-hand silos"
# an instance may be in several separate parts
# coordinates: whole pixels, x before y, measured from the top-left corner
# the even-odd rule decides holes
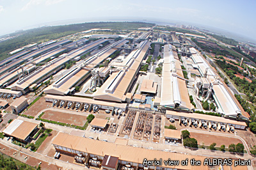
[[[164,45],[164,63],[162,73],[161,103],[166,109],[191,111],[188,89],[179,57],[172,45]]]

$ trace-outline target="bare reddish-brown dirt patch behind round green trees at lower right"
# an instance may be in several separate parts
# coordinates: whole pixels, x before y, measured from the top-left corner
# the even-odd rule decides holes
[[[228,145],[232,143],[243,144],[243,142],[240,139],[237,139],[235,137],[209,135],[209,134],[205,134],[203,131],[202,131],[202,134],[197,132],[190,132],[190,137],[195,138],[198,144],[204,143],[205,146],[210,146],[212,143],[216,143],[216,147],[220,147],[222,144],[225,144],[226,148],[228,148]]]

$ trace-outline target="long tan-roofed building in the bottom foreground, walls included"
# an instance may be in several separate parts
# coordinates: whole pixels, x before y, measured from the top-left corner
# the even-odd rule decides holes
[[[145,148],[137,148],[133,146],[115,144],[115,143],[106,143],[104,141],[93,140],[85,137],[79,137],[75,135],[65,134],[60,132],[55,139],[52,141],[52,144],[56,151],[68,155],[79,155],[85,159],[85,163],[90,167],[106,167],[108,159],[111,157],[116,157],[113,160],[113,166],[115,168],[116,159],[118,159],[118,164],[120,169],[148,169],[148,170],[181,170],[181,169],[193,169],[193,170],[202,170],[208,169],[207,166],[201,164],[200,166],[191,166],[191,164],[182,166],[182,164],[177,165],[165,165],[161,164],[156,165],[143,165],[145,158],[147,160],[188,160],[195,159],[204,162],[205,157],[195,156],[195,155],[184,155],[182,153],[173,153],[168,151],[161,150],[148,150]],[[100,147],[99,147],[100,146]],[[111,156],[111,157],[109,157]],[[106,157],[108,159],[106,160]],[[110,163],[110,162],[109,162]],[[112,163],[112,162],[111,162]],[[107,166],[108,167],[108,166]]]

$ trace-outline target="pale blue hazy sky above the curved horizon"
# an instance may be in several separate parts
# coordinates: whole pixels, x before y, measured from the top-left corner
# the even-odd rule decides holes
[[[256,40],[255,6],[253,0],[0,0],[0,35],[59,20],[147,19],[203,24]]]

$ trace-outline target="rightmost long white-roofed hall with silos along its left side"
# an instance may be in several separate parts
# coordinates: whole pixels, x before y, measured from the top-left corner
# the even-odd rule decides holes
[[[200,91],[202,91],[202,97],[205,97],[204,101],[209,100],[212,96],[218,107],[218,112],[227,118],[249,120],[250,115],[244,111],[236,97],[228,89],[227,85],[220,80],[218,74],[207,63],[202,54],[195,48],[190,48],[190,51],[191,58],[198,66],[198,71],[202,76],[195,81],[196,96],[198,97]]]

